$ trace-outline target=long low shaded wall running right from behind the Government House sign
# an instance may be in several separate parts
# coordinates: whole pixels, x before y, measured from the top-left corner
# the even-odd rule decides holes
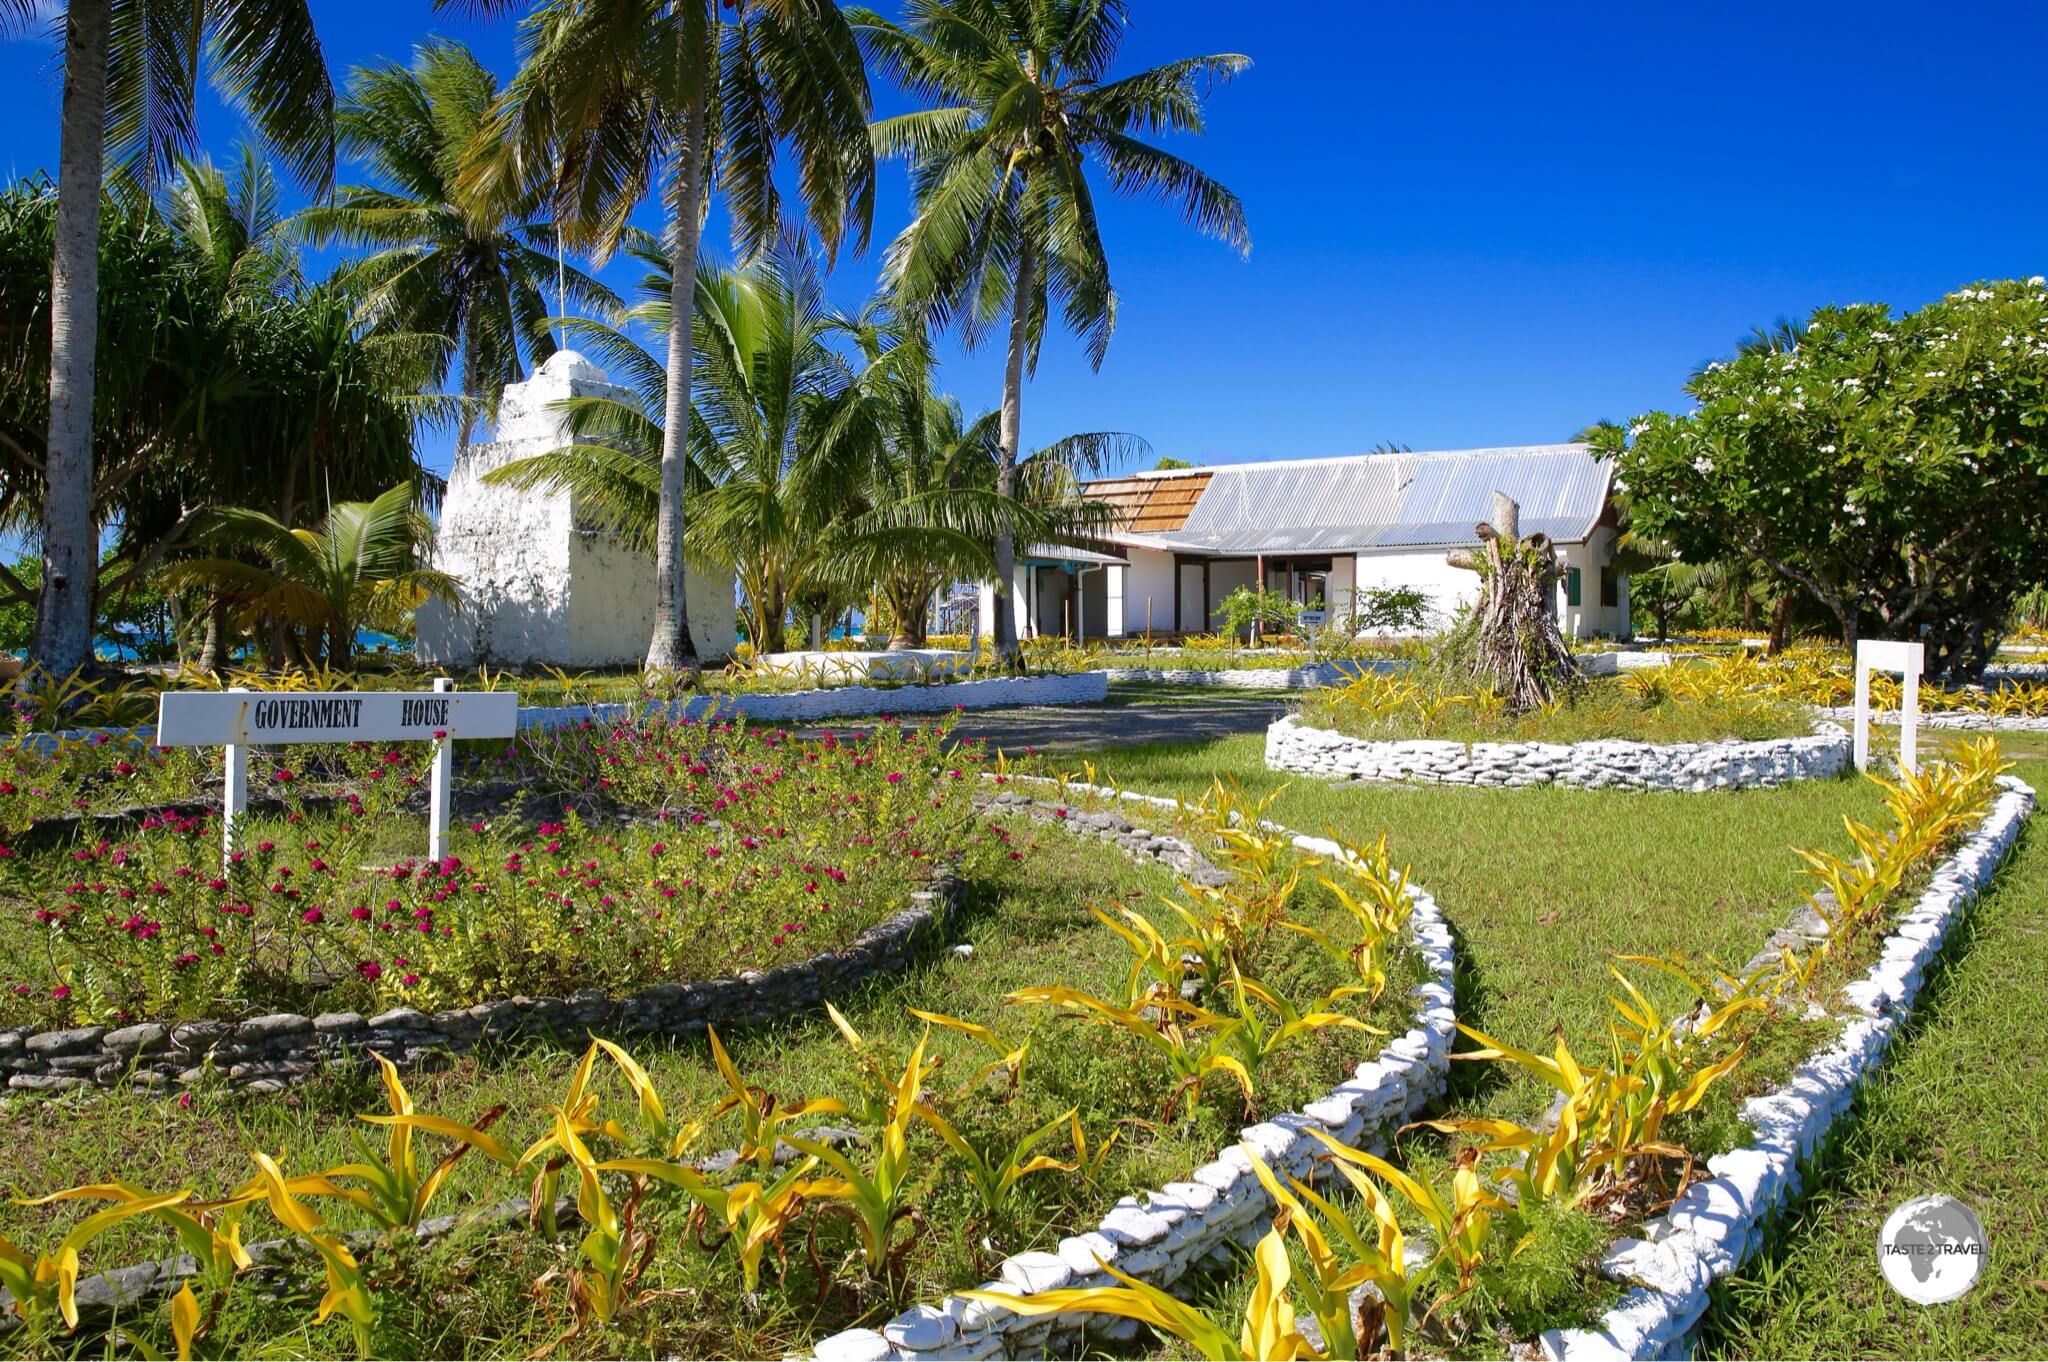
[[[1094,705],[1106,700],[1110,682],[1102,672],[1051,676],[993,676],[989,680],[946,682],[942,686],[831,686],[782,694],[698,694],[666,707],[672,719],[737,719],[754,723],[815,723],[819,719],[864,719],[870,715],[940,715],[952,709],[995,709],[1004,705]],[[586,719],[616,723],[629,705],[522,707],[522,729],[565,729]]]

